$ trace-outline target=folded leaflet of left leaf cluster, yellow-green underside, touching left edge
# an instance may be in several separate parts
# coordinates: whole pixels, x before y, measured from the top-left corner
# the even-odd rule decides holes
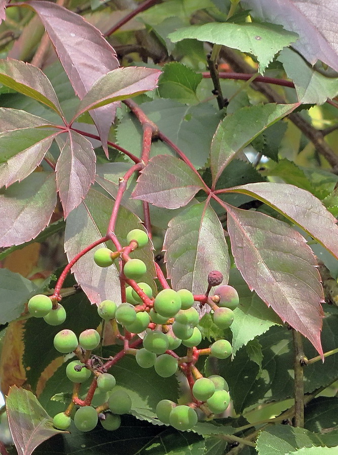
[[[14,59],[0,60],[0,82],[45,104],[63,117],[51,82],[36,66]]]

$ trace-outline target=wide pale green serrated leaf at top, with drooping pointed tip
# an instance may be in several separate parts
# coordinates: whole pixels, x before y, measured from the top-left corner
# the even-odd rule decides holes
[[[298,35],[276,24],[213,22],[181,28],[169,38],[174,42],[195,38],[253,54],[260,63],[259,72],[263,74],[277,52],[295,42]]]

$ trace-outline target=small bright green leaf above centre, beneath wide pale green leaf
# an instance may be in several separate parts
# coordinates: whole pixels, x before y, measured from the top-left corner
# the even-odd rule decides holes
[[[202,75],[179,62],[167,63],[158,80],[158,93],[162,98],[171,98],[179,103],[196,104],[196,89]]]

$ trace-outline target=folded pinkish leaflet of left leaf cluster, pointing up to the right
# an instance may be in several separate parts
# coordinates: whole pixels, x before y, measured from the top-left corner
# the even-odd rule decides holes
[[[82,98],[74,119],[90,109],[153,90],[160,74],[157,69],[135,66],[110,71],[97,80]]]

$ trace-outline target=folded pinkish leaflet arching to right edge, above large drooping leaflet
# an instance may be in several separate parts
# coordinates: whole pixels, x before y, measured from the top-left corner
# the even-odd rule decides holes
[[[254,196],[270,205],[298,224],[338,259],[337,220],[308,191],[288,184],[262,182],[231,188],[229,192]]]

